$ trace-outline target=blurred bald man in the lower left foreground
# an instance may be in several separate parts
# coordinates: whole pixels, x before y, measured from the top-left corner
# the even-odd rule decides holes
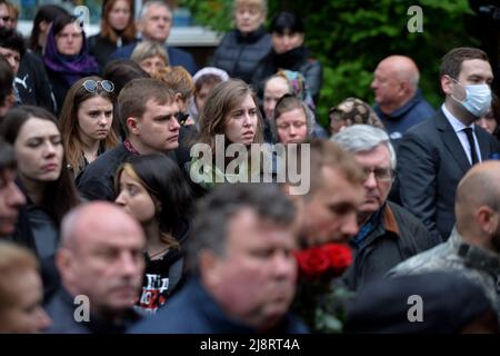
[[[141,226],[111,202],[89,202],[61,224],[56,263],[62,288],[49,303],[49,333],[122,333],[139,320],[132,306],[144,269]]]

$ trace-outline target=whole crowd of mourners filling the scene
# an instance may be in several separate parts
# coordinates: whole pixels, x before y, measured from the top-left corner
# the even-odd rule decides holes
[[[134,1],[104,0],[89,38],[42,6],[24,39],[0,0],[0,333],[322,330],[304,308],[330,299],[301,299],[322,250],[343,266],[322,293],[347,291],[331,315],[344,333],[499,333],[486,52],[442,57],[439,108],[417,63],[388,53],[374,103],[331,103],[323,127],[334,83],[301,17],[266,28],[266,0],[233,2],[234,29],[197,63],[167,44],[164,1],[134,19]]]

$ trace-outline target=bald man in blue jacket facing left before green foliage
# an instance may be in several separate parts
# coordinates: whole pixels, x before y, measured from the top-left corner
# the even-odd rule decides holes
[[[393,140],[434,113],[419,89],[419,78],[417,65],[404,56],[387,57],[373,73],[373,109]]]

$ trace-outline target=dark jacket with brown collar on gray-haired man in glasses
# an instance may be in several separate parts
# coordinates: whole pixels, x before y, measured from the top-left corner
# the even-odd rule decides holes
[[[439,243],[411,212],[388,201],[361,247],[351,243],[354,259],[341,283],[357,290],[367,283],[383,278],[399,263]]]

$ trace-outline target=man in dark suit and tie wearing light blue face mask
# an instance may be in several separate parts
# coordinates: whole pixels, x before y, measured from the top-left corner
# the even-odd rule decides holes
[[[444,103],[436,116],[411,128],[398,150],[402,205],[443,240],[456,221],[458,182],[477,162],[494,157],[499,142],[474,122],[491,106],[493,73],[477,48],[456,48],[443,58]]]

